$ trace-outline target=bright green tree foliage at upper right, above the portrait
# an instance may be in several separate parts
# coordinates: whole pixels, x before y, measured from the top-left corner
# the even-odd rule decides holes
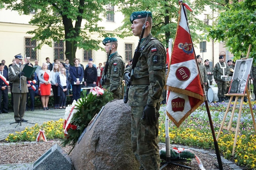
[[[207,30],[208,37],[224,41],[236,59],[246,55],[250,44],[250,56],[256,58],[256,1],[227,4],[219,14],[217,23]]]

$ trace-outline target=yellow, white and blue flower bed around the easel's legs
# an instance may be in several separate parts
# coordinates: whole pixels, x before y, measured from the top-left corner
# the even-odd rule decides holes
[[[232,104],[231,104],[232,105]],[[236,107],[232,127],[237,124],[239,105]],[[256,102],[252,102],[253,112],[256,112]],[[219,131],[221,122],[226,112],[227,103],[209,103],[215,135]],[[229,123],[232,107],[229,109],[224,126]],[[193,112],[179,128],[174,123],[169,123],[169,136],[171,143],[180,143],[186,146],[197,146],[204,149],[214,149],[213,137],[209,124],[206,107],[202,104]],[[240,166],[248,169],[256,168],[256,134],[253,127],[252,116],[248,103],[243,104],[240,120],[240,132],[237,138],[235,154],[232,157],[235,132],[223,130],[218,139],[220,152],[227,159],[233,159]],[[165,107],[160,108],[159,139],[165,141]]]

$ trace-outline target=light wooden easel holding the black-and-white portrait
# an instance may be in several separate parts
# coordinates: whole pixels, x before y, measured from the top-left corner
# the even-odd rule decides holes
[[[249,46],[249,49],[248,49],[248,52],[247,52],[247,55],[245,58],[242,58],[242,59],[247,59],[248,56],[249,56],[249,53],[250,53],[250,50],[251,50],[251,45]],[[233,132],[236,132],[236,135],[235,135],[235,138],[234,138],[234,145],[233,145],[233,150],[232,150],[232,156],[234,156],[234,149],[236,147],[236,144],[237,144],[237,136],[238,136],[238,132],[239,132],[239,125],[240,125],[240,118],[241,118],[241,113],[242,113],[242,108],[243,108],[243,101],[244,101],[244,97],[247,96],[247,99],[248,99],[248,103],[249,103],[249,106],[250,106],[250,111],[251,111],[251,115],[252,115],[252,120],[253,120],[253,126],[254,126],[254,131],[256,133],[256,123],[255,123],[255,119],[254,119],[254,115],[253,115],[253,109],[252,109],[252,103],[251,103],[251,99],[250,99],[250,95],[249,95],[249,92],[248,92],[248,89],[247,89],[247,86],[245,87],[246,89],[246,94],[226,94],[225,96],[230,96],[230,99],[229,99],[229,102],[228,102],[228,106],[227,106],[227,109],[226,109],[226,113],[224,115],[224,118],[223,118],[223,121],[221,123],[221,127],[219,128],[219,132],[218,132],[218,135],[217,135],[217,140],[219,138],[219,135],[221,134],[221,131],[223,129],[226,129],[228,131],[233,131]],[[230,104],[232,102],[232,99],[233,97],[236,97],[235,101],[234,101],[234,105],[233,105],[233,109],[232,109],[232,113],[231,113],[231,117],[230,117],[230,120],[229,120],[229,124],[228,126],[224,126],[224,123],[225,123],[225,119],[227,117],[227,114],[228,114],[228,110],[230,108]],[[237,101],[238,101],[238,98],[241,97],[241,102],[240,102],[240,107],[239,107],[239,113],[238,113],[238,119],[237,119],[237,127],[236,129],[232,128],[231,127],[231,123],[232,123],[232,120],[233,120],[233,116],[234,116],[234,111],[236,110],[236,105],[237,105]]]

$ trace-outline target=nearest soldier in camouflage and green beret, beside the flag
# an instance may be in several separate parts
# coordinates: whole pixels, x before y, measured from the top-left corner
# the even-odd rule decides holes
[[[166,50],[152,37],[151,12],[133,12],[130,21],[133,35],[138,37],[145,23],[145,32],[140,45],[140,48],[143,46],[144,48],[141,49],[138,63],[134,68],[134,79],[128,94],[128,102],[131,106],[131,146],[140,162],[139,169],[158,170],[160,167],[158,111],[165,86]],[[131,67],[125,71],[125,80],[129,80],[130,70]]]

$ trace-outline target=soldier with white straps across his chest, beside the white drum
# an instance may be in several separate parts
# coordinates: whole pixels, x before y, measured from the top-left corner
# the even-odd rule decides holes
[[[225,100],[225,94],[227,89],[227,82],[223,81],[221,78],[222,75],[224,77],[229,77],[230,74],[230,68],[228,67],[227,63],[224,62],[224,56],[219,56],[219,62],[214,66],[213,69],[213,78],[218,86],[218,98],[219,102]]]

